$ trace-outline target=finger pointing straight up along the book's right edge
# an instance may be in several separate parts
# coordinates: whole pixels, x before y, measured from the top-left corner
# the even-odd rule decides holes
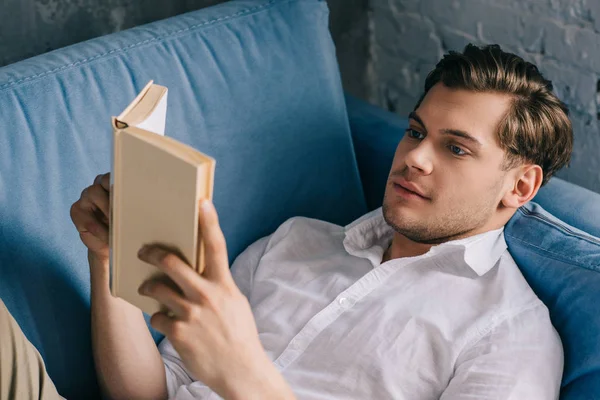
[[[198,239],[204,243],[206,268],[203,275],[210,281],[230,282],[233,280],[227,258],[227,244],[219,225],[217,210],[210,200],[200,203]]]

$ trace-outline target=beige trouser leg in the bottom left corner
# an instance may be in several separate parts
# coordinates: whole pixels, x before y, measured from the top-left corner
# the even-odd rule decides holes
[[[0,299],[0,400],[62,397],[46,372],[44,360]]]

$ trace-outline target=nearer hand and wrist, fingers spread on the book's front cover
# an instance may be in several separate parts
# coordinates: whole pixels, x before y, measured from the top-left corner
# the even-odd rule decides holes
[[[252,393],[256,398],[294,399],[265,353],[248,299],[233,280],[217,212],[210,201],[200,209],[206,249],[202,275],[161,246],[146,246],[138,253],[181,289],[177,292],[160,279],[140,287],[140,293],[171,311],[154,314],[150,323],[170,340],[192,375],[222,398],[242,399]]]

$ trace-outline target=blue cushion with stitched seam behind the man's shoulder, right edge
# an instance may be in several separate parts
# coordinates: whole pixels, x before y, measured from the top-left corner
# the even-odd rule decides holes
[[[600,202],[600,195],[590,197]],[[533,202],[515,213],[504,236],[560,334],[565,352],[561,399],[592,398],[600,393],[600,239]]]

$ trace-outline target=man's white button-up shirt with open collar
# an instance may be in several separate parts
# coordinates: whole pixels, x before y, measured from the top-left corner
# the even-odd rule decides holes
[[[381,208],[347,227],[292,218],[232,274],[298,399],[557,399],[562,345],[503,229],[381,263]],[[169,397],[220,399],[160,344]]]

